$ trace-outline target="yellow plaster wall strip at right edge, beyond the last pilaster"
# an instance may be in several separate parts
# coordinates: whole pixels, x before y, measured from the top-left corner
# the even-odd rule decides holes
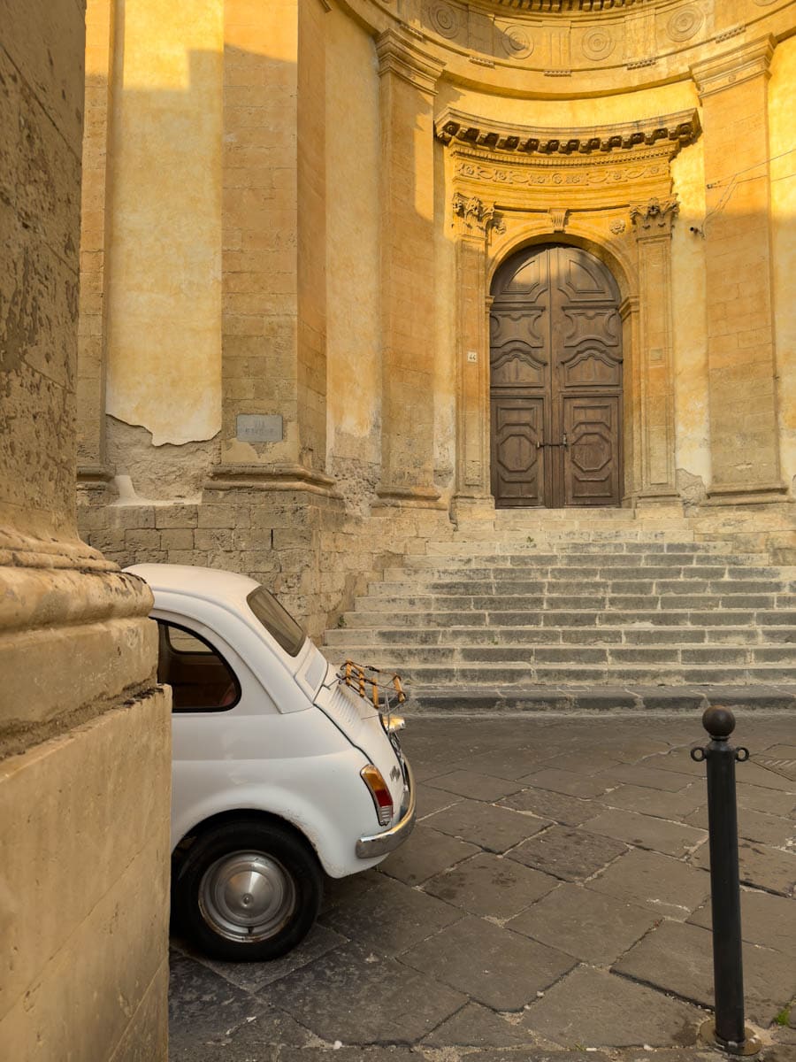
[[[768,83],[774,313],[782,479],[796,495],[796,37],[774,53]]]

